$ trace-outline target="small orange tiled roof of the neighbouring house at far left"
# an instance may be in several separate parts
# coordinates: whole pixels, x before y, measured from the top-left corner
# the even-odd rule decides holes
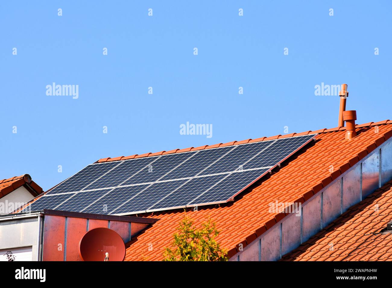
[[[4,197],[5,195],[13,192],[14,190],[18,189],[19,187],[25,185],[27,190],[33,195],[37,196],[42,194],[42,188],[38,186],[29,174],[24,174],[21,176],[15,176],[8,179],[0,180],[0,198]]]

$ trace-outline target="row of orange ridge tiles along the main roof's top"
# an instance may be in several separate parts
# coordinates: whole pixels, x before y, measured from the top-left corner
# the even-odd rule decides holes
[[[363,123],[363,124],[356,124],[356,128],[364,128],[364,127],[370,127],[370,126],[377,126],[377,125],[383,125],[383,124],[391,124],[392,120],[383,120],[379,122],[368,122],[368,123]],[[144,158],[144,157],[150,157],[150,156],[158,156],[158,155],[166,155],[166,154],[173,154],[173,153],[181,153],[181,152],[188,152],[188,151],[196,151],[196,150],[203,150],[203,149],[211,149],[211,148],[217,148],[217,147],[225,147],[225,146],[232,146],[232,145],[240,145],[240,144],[246,144],[246,143],[254,143],[254,142],[260,142],[260,141],[267,141],[267,140],[274,140],[274,139],[282,139],[282,138],[290,138],[290,137],[296,137],[296,136],[303,136],[303,135],[309,135],[309,134],[320,134],[320,133],[328,133],[328,132],[336,132],[336,131],[343,131],[346,130],[346,127],[335,127],[335,128],[323,128],[323,129],[318,129],[314,131],[304,131],[301,133],[290,133],[290,134],[285,134],[285,135],[275,135],[275,136],[270,136],[270,137],[261,137],[261,138],[256,138],[256,139],[245,139],[242,141],[231,141],[227,143],[218,143],[214,145],[203,145],[200,147],[189,147],[185,149],[173,149],[169,151],[160,151],[160,152],[155,152],[155,153],[145,153],[145,154],[134,154],[131,156],[119,156],[115,158],[101,158],[95,161],[94,163],[102,163],[102,162],[111,162],[111,161],[120,161],[120,160],[127,160],[127,159],[134,159],[134,158]],[[1,183],[1,181],[0,181]]]

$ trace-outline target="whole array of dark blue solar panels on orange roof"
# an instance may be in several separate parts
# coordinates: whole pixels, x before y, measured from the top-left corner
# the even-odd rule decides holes
[[[314,136],[91,164],[30,208],[129,215],[225,203]]]

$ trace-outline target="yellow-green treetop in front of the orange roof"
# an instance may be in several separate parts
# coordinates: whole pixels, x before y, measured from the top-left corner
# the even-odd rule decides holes
[[[167,247],[163,252],[164,261],[227,261],[227,251],[215,241],[219,234],[215,223],[209,219],[200,229],[192,225],[193,221],[187,216],[180,221],[172,248]]]

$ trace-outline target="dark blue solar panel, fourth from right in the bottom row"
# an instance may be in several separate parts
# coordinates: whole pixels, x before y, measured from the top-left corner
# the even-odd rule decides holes
[[[82,212],[95,213],[95,214],[109,214],[111,211],[122,205],[132,197],[136,196],[143,189],[147,188],[150,184],[135,185],[129,187],[118,187],[102,198],[98,199],[93,205],[87,207]]]

